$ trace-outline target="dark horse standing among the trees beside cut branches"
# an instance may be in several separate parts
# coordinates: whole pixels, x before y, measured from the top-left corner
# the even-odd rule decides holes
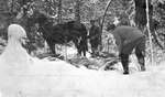
[[[77,47],[78,54],[86,56],[88,51],[87,45],[87,29],[82,23],[69,21],[63,24],[54,25],[44,13],[34,12],[32,15],[35,23],[38,23],[40,32],[46,40],[51,51],[56,55],[55,44],[65,44],[70,41]]]

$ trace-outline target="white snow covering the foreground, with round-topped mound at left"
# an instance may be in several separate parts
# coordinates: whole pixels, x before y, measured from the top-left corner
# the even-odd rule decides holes
[[[11,26],[12,34],[22,29]],[[165,62],[130,75],[76,68],[59,60],[31,57],[18,41],[25,34],[18,32],[22,35],[11,35],[0,56],[1,97],[164,97]]]

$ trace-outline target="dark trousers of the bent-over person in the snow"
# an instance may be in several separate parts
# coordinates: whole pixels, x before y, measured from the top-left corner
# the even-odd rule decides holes
[[[129,74],[129,56],[133,48],[135,48],[135,55],[141,66],[141,71],[145,71],[145,36],[143,36],[131,43],[128,43],[127,45],[123,45],[120,57],[124,74]]]

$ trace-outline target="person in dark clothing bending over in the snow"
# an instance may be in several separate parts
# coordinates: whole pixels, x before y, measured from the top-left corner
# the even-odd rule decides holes
[[[117,46],[119,48],[119,56],[123,66],[123,74],[129,74],[129,55],[135,48],[135,55],[141,65],[141,71],[145,71],[145,35],[136,28],[121,25],[108,26],[108,31],[112,30],[112,34],[116,39]]]

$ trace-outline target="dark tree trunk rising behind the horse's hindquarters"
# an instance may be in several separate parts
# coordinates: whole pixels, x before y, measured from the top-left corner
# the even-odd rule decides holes
[[[75,20],[76,20],[77,22],[80,22],[80,0],[76,0]]]

